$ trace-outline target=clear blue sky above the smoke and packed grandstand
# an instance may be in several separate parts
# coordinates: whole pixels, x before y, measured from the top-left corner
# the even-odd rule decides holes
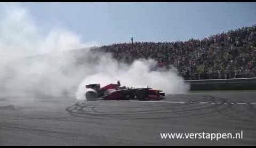
[[[43,29],[101,45],[204,38],[256,24],[256,3],[20,3]]]

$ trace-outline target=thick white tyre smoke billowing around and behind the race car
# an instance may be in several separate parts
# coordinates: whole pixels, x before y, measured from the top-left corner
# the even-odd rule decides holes
[[[186,93],[175,68],[152,70],[154,60],[131,65],[117,62],[110,53],[95,52],[97,42],[82,43],[67,29],[45,34],[19,5],[0,6],[0,93],[24,97],[68,97],[84,100],[85,85],[121,81],[127,87],[151,87],[165,93]]]

